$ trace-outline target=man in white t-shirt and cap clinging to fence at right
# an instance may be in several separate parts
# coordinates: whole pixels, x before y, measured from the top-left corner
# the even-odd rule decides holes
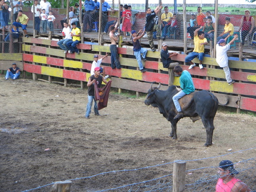
[[[235,39],[238,37],[237,34],[234,35],[233,39],[226,44],[226,40],[230,37],[229,34],[225,39],[220,39],[218,43],[216,44],[216,62],[220,66],[220,68],[223,68],[223,71],[226,75],[226,81],[229,85],[232,85],[235,81],[231,79],[231,73],[229,71],[228,66],[228,55],[227,52],[230,49],[230,45],[235,41]]]

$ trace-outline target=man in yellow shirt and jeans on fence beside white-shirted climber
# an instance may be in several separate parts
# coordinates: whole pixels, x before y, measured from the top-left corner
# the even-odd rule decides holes
[[[203,61],[204,45],[207,44],[207,39],[204,38],[204,32],[199,31],[201,28],[203,28],[203,26],[197,28],[196,31],[194,31],[194,50],[185,57],[185,62],[190,63],[190,67],[188,69],[192,69],[194,68],[194,66],[196,66],[196,64],[191,61],[196,57],[199,59],[200,62],[199,68],[203,69],[203,65],[201,63]]]

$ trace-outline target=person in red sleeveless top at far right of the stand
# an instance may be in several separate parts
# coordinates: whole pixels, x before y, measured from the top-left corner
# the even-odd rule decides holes
[[[238,32],[239,32],[242,28],[242,33],[241,33],[242,45],[244,45],[245,37],[247,36],[247,34],[249,34],[249,39],[251,39],[252,30],[254,28],[254,18],[250,15],[251,11],[246,9],[244,12],[245,12],[245,15],[242,16],[240,21],[240,26],[238,29]]]

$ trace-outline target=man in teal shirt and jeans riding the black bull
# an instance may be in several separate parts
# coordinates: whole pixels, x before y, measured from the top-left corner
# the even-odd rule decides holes
[[[181,91],[179,91],[172,100],[174,101],[174,105],[177,110],[177,115],[174,119],[181,119],[183,117],[183,112],[181,111],[181,106],[178,100],[185,95],[190,94],[191,92],[195,91],[193,79],[191,78],[190,73],[187,70],[183,71],[180,65],[174,67],[174,73],[180,76],[180,87]]]

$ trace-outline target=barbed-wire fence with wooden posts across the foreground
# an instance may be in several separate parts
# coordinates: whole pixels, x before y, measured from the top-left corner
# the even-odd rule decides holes
[[[241,151],[230,152],[224,155],[212,156],[202,159],[179,160],[174,162],[165,162],[159,165],[136,169],[123,169],[117,171],[101,172],[88,177],[72,178],[72,188],[76,191],[215,191],[215,186],[219,176],[217,175],[218,163],[224,159],[232,160],[234,167],[239,174],[236,178],[248,185],[252,190],[256,189],[256,156],[255,149],[249,148]],[[246,157],[246,158],[245,158]],[[217,162],[213,163],[213,162]],[[185,163],[185,164],[184,164]],[[180,164],[180,165],[177,165]],[[158,171],[165,170],[166,175],[152,177]],[[119,185],[118,180],[121,174],[125,174],[127,184]],[[140,175],[140,176],[138,176]],[[183,177],[180,177],[183,176]],[[109,184],[110,188],[101,189],[100,183],[107,177],[112,178],[113,182]],[[139,177],[139,178],[138,178]],[[177,178],[179,177],[179,178]],[[150,178],[150,179],[148,179]],[[87,188],[87,182],[98,183],[97,189]],[[81,185],[82,183],[82,185]],[[55,183],[46,184],[40,187],[32,188],[22,192],[50,188]],[[78,187],[79,186],[79,187]],[[81,187],[83,186],[83,187]],[[179,188],[179,190],[177,190]],[[49,190],[47,190],[49,191]]]

